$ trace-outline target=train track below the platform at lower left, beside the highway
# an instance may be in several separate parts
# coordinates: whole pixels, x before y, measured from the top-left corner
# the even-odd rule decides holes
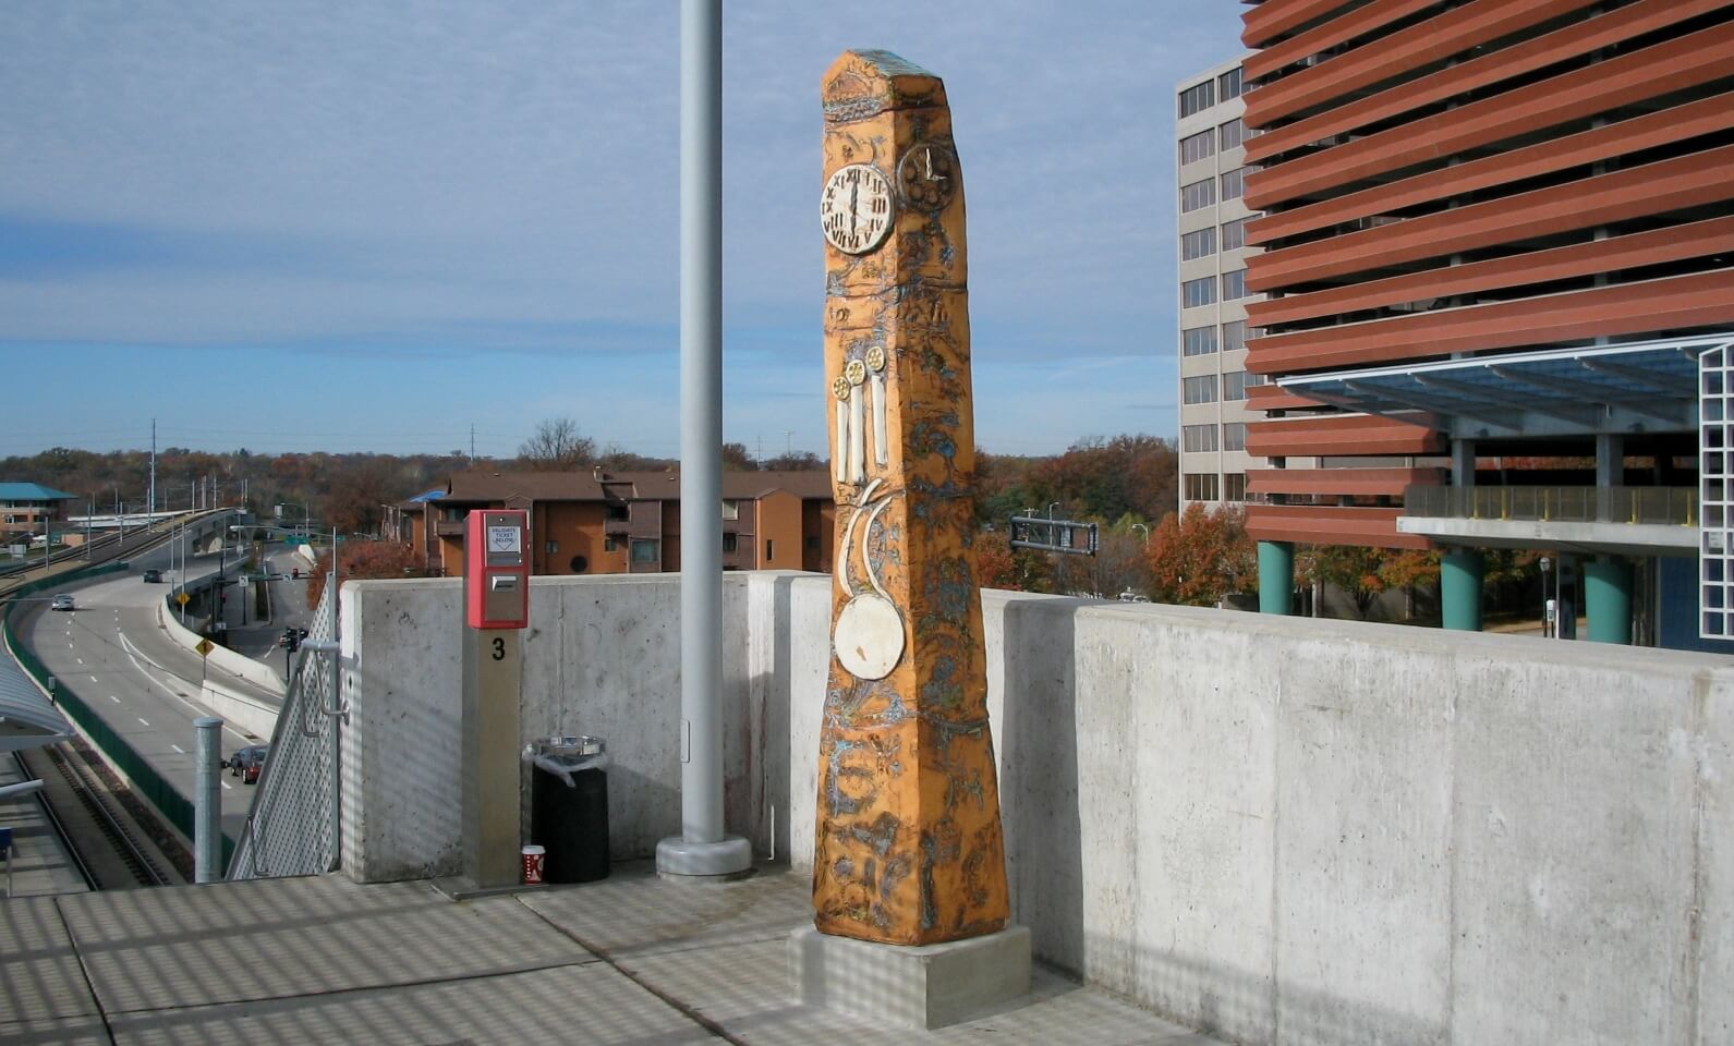
[[[42,807],[85,883],[92,890],[128,890],[180,881],[153,855],[154,845],[134,836],[134,815],[123,812],[118,789],[92,765],[94,749],[85,749],[83,741],[73,741],[40,748],[29,760],[16,753],[26,779],[35,777],[29,763],[38,756],[54,768],[52,777],[43,777]]]

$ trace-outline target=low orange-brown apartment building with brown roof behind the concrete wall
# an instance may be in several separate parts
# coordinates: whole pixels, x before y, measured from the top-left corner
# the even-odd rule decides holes
[[[458,472],[444,491],[395,505],[387,529],[430,569],[456,576],[463,520],[477,508],[529,513],[532,574],[680,569],[675,472]],[[721,515],[725,571],[831,569],[836,505],[825,472],[725,472]]]

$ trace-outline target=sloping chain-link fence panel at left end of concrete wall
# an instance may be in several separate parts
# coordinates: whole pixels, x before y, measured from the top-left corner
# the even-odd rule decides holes
[[[342,793],[336,585],[326,581],[312,626],[290,671],[288,696],[271,734],[271,755],[246,829],[229,862],[231,879],[314,876],[336,869]]]

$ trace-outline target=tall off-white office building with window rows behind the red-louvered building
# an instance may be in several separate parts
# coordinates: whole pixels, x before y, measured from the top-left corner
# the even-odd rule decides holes
[[[1181,510],[1191,501],[1247,500],[1247,220],[1242,203],[1247,137],[1235,59],[1176,88]]]

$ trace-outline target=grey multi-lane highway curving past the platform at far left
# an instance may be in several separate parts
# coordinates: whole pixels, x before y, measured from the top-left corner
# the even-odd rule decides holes
[[[199,680],[206,670],[201,657],[175,644],[156,619],[158,604],[175,592],[173,583],[180,572],[180,552],[172,552],[170,545],[134,557],[127,572],[40,593],[50,597],[68,592],[78,609],[49,611],[47,602],[33,600],[33,609],[21,614],[17,631],[55,678],[68,680],[140,756],[191,798],[196,748],[192,720],[213,713],[198,701]],[[236,552],[231,548],[222,559],[232,576]],[[291,564],[305,565],[283,546],[272,546],[267,562],[283,572],[288,572]],[[187,581],[217,574],[218,565],[218,553],[189,555]],[[163,571],[165,583],[146,585],[142,571],[147,567]],[[305,581],[272,583],[271,619],[253,621],[250,605],[246,626],[241,624],[239,592],[231,588],[227,600],[231,647],[260,661],[269,659],[281,675],[284,656],[276,647],[276,638],[290,624],[305,626]],[[281,704],[279,696],[232,675],[224,673],[222,683],[262,703]],[[244,734],[225,723],[222,756],[227,758],[244,744],[265,741],[269,737]],[[253,791],[241,779],[227,772],[222,775],[225,834],[239,838]]]

